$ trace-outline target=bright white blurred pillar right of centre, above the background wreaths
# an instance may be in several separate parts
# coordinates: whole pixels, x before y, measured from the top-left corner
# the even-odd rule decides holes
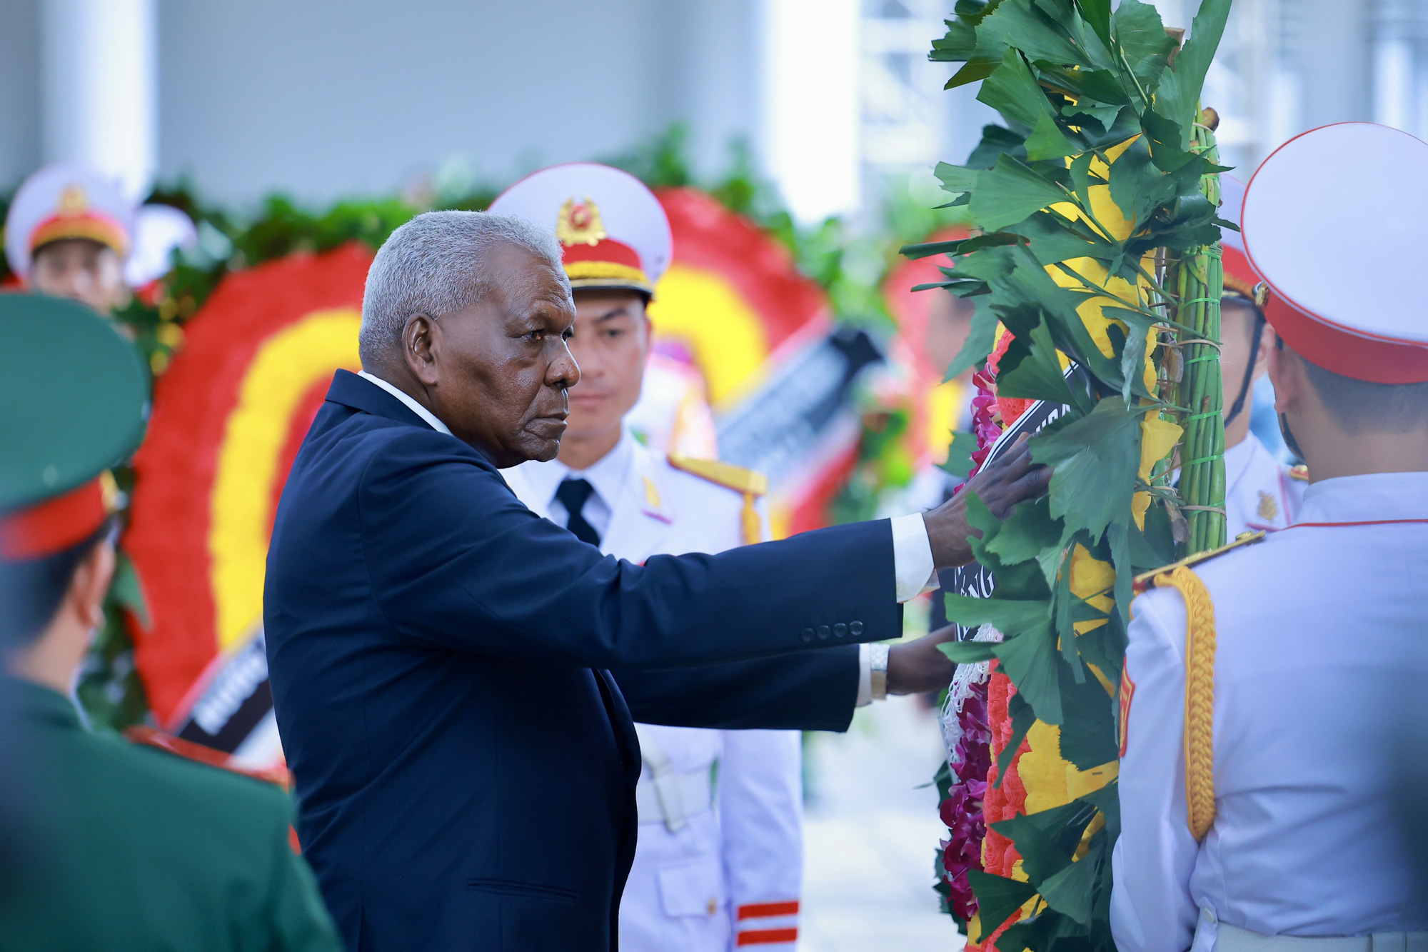
[[[800,222],[858,210],[857,0],[765,0],[765,156]]]

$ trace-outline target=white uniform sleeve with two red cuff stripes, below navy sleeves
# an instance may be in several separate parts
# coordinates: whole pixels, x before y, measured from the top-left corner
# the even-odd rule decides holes
[[[734,945],[793,949],[803,891],[803,736],[727,732],[718,812]]]

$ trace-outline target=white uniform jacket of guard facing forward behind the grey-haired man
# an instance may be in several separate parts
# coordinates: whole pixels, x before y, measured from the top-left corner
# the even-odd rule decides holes
[[[595,495],[583,515],[600,532],[601,550],[630,562],[743,543],[741,493],[675,469],[628,435],[584,472],[558,462],[504,472],[521,502],[558,525],[568,517],[554,502],[561,479],[587,479]],[[638,846],[620,903],[621,951],[793,949],[803,886],[800,733],[661,725],[638,730],[643,746],[653,742],[668,758],[685,785],[684,799],[698,800],[688,785],[708,789],[713,782],[714,806],[691,810],[670,830],[655,806],[645,750]]]

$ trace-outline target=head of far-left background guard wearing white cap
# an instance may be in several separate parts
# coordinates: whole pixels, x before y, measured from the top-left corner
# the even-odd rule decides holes
[[[124,264],[136,213],[119,182],[71,163],[44,166],[10,202],[6,260],[33,290],[109,314],[130,297]]]

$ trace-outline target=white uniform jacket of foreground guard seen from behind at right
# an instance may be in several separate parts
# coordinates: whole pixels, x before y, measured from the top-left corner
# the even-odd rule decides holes
[[[1404,725],[1422,716],[1428,683],[1428,473],[1312,483],[1294,526],[1195,572],[1217,630],[1217,815],[1197,843],[1185,609],[1175,589],[1151,590],[1132,603],[1122,688],[1117,946],[1205,952],[1220,923],[1428,929],[1395,808]]]

